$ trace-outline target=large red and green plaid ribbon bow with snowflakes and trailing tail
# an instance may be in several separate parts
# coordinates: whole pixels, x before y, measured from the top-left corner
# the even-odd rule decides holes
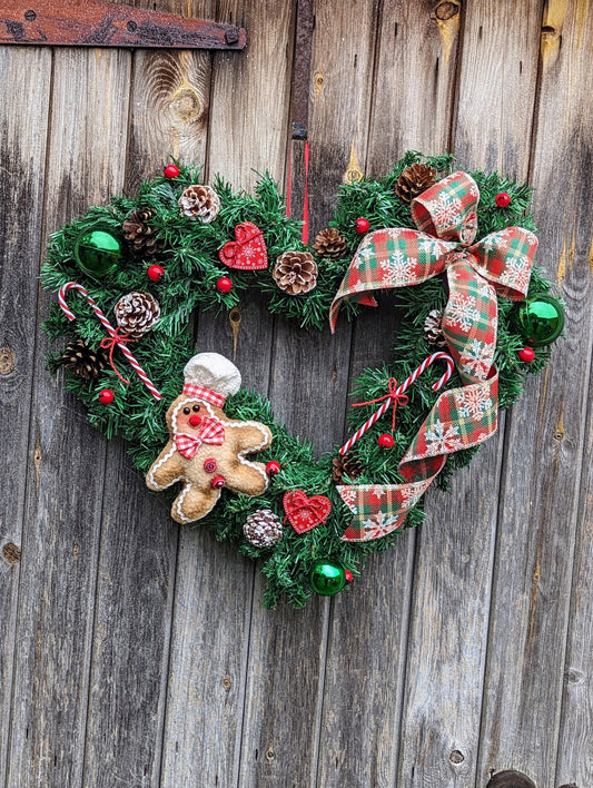
[[[446,272],[449,297],[442,328],[464,383],[438,397],[408,447],[399,464],[404,484],[338,486],[355,515],[346,541],[378,539],[398,528],[449,453],[496,431],[496,296],[525,297],[537,238],[522,227],[506,227],[474,243],[478,200],[467,173],[432,186],[412,203],[417,230],[395,227],[365,236],[332,304],[333,331],[345,298],[376,306],[373,290],[416,285]]]

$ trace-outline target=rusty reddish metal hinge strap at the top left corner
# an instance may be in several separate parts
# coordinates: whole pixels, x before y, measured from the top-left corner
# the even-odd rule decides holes
[[[247,33],[234,24],[105,0],[2,0],[0,43],[240,50]]]

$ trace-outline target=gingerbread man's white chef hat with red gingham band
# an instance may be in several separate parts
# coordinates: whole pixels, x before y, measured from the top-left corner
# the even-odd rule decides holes
[[[241,386],[241,374],[219,353],[198,353],[185,366],[184,394],[224,407],[227,396]]]

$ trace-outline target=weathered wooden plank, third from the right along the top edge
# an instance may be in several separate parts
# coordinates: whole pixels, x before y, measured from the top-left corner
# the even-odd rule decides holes
[[[433,6],[383,4],[375,73],[369,70],[367,75],[372,109],[365,169],[375,176],[386,174],[407,148],[438,151],[446,147],[457,20],[452,22],[451,39],[445,40],[434,20]],[[421,72],[429,78],[418,80]],[[408,99],[411,93],[414,101]],[[435,96],[438,112],[433,106]],[[353,376],[392,357],[396,326],[397,315],[388,296],[379,299],[378,309],[368,309],[357,319],[350,356]],[[414,544],[415,534],[406,532],[395,549],[369,559],[349,593],[335,600],[319,785],[396,784]]]

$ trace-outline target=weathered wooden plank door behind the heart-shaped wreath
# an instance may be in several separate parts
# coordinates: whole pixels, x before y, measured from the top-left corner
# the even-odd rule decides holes
[[[247,49],[0,47],[0,786],[592,786],[593,3],[315,0],[310,39],[296,0],[136,4],[243,24]],[[303,90],[313,235],[353,151],[369,176],[448,149],[530,179],[567,338],[422,529],[350,593],[270,612],[47,374],[37,276],[50,233],[170,155],[286,185]],[[303,178],[295,142],[297,209]],[[318,452],[339,442],[397,315],[330,336],[257,297],[241,314],[245,385]],[[233,353],[225,316],[195,325]]]

